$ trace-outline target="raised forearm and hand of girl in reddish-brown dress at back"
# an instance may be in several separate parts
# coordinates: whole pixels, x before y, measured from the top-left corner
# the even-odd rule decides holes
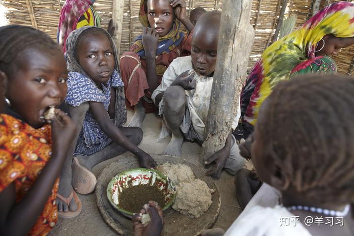
[[[152,93],[160,82],[156,74],[156,51],[157,51],[157,42],[158,34],[155,30],[145,27],[143,29],[143,47],[145,50],[145,59],[147,62],[147,80],[149,91]]]

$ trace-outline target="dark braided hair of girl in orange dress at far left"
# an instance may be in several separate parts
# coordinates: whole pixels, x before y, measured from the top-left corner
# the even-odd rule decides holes
[[[53,39],[37,29],[18,25],[0,27],[0,70],[6,74],[12,73],[16,63],[11,62],[28,47],[60,50]]]

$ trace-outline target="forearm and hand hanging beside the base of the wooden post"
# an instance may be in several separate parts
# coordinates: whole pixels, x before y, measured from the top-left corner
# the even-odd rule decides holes
[[[232,131],[229,133],[229,136],[226,139],[225,146],[221,150],[215,152],[212,156],[209,157],[205,161],[205,164],[210,164],[211,162],[215,162],[215,165],[206,173],[207,176],[219,178],[221,175],[221,171],[225,166],[227,159],[230,156],[231,150],[231,137]]]

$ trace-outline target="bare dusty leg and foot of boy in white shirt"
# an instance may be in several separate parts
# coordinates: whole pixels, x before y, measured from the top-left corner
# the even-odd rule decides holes
[[[181,156],[183,135],[179,129],[183,121],[186,99],[185,91],[180,86],[171,86],[166,89],[164,96],[163,117],[166,126],[172,132],[172,138],[167,145],[165,155]]]

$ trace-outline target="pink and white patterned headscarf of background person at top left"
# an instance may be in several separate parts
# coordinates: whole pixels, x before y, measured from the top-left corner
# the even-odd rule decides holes
[[[58,26],[57,42],[62,45],[65,54],[65,41],[68,35],[76,29],[80,17],[87,11],[92,0],[66,0],[61,11]],[[95,18],[95,26],[99,27],[99,19]]]

